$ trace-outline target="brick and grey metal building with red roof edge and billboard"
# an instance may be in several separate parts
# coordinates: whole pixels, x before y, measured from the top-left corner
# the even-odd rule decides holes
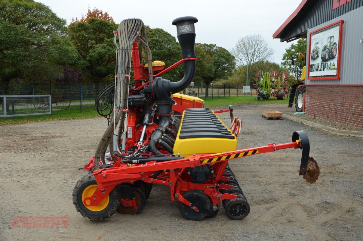
[[[363,128],[363,0],[303,0],[273,34],[307,38],[305,113]]]

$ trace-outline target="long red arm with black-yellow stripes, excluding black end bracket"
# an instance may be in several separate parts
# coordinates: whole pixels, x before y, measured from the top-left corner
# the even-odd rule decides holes
[[[179,178],[179,175],[182,173],[182,172],[176,173],[174,169],[183,170],[183,168],[193,168],[197,165],[207,165],[211,163],[216,164],[222,161],[227,161],[245,156],[251,156],[254,154],[274,152],[276,150],[282,150],[287,148],[301,148],[301,145],[302,145],[301,141],[299,140],[285,144],[271,143],[268,144],[267,146],[235,150],[230,152],[202,154],[202,155],[194,154],[192,156],[189,156],[188,158],[179,159],[179,160],[171,160],[164,162],[150,161],[146,162],[146,164],[141,164],[137,166],[126,166],[126,167],[117,166],[113,168],[98,169],[93,172],[93,175],[95,176],[99,190],[96,190],[93,193],[93,195],[91,195],[91,197],[85,198],[85,200],[83,200],[83,203],[85,203],[86,200],[90,200],[91,203],[86,206],[98,206],[101,203],[101,201],[111,192],[111,190],[113,190],[113,188],[116,185],[122,182],[134,183],[135,181],[140,179],[143,179],[143,181],[146,182],[155,182],[170,186],[171,197],[172,200],[174,200],[175,198],[174,198],[173,188],[175,187],[175,183]],[[151,178],[150,175],[158,170],[170,170],[169,178],[166,177],[164,180],[155,180]],[[174,172],[174,174],[172,172]],[[219,172],[219,175],[221,174],[222,172]],[[205,185],[205,184],[199,184],[199,185]]]

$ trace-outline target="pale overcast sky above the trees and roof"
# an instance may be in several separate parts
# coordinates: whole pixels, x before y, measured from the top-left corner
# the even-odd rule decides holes
[[[291,43],[272,39],[272,34],[293,13],[301,0],[36,0],[48,5],[59,17],[70,23],[72,17],[86,15],[94,7],[109,13],[115,23],[124,19],[139,18],[151,28],[162,28],[176,37],[172,20],[182,16],[194,16],[196,42],[216,44],[231,49],[237,39],[260,33],[275,50],[272,61],[280,64],[285,48]]]

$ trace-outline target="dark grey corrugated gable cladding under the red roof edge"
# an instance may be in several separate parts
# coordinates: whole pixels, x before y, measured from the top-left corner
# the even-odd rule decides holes
[[[363,0],[351,0],[336,9],[333,9],[333,0],[308,1],[281,34],[281,42],[362,6]]]

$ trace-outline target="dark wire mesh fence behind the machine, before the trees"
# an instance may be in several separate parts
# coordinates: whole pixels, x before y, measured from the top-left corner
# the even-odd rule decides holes
[[[1,84],[2,83],[0,83],[0,85]],[[50,95],[52,98],[51,103],[49,103],[48,110],[53,109],[54,111],[56,111],[68,109],[68,111],[70,112],[79,113],[86,110],[95,111],[95,99],[97,98],[98,94],[106,88],[106,86],[106,84],[81,83],[49,83],[29,85],[23,83],[22,81],[19,81],[15,83],[10,83],[8,88],[9,93],[7,94],[7,96],[32,96],[33,98],[35,98],[34,95]],[[0,88],[0,95],[4,95],[4,92],[2,92],[3,89],[4,87]],[[185,92],[180,93],[205,98],[205,85],[203,86],[203,88],[199,85],[190,86],[189,88],[185,89]],[[207,98],[213,99],[228,96],[252,95],[255,95],[253,90],[250,90],[249,88],[245,89],[245,86],[242,85],[209,85]],[[25,101],[25,99],[23,101]],[[34,99],[29,100],[28,102],[29,107],[31,108],[33,106],[33,108],[35,109]],[[5,106],[4,103],[5,102],[0,103],[0,106],[2,107],[0,116],[4,116],[4,110],[8,110],[7,114],[10,113],[9,110],[12,110],[12,105]],[[13,113],[16,112],[15,106],[16,105],[14,105]]]

